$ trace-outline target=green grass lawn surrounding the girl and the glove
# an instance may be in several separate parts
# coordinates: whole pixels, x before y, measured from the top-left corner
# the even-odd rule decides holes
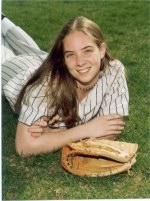
[[[4,200],[149,198],[149,1],[8,1],[3,12],[49,51],[64,22],[83,15],[101,26],[112,54],[127,68],[130,116],[120,140],[139,144],[133,175],[86,178],[60,164],[61,151],[21,158],[15,152],[17,116],[2,102]]]

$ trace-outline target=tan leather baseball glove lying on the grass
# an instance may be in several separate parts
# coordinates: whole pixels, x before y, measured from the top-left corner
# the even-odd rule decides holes
[[[68,172],[79,176],[108,176],[130,173],[136,162],[138,144],[86,139],[62,148],[61,164]]]

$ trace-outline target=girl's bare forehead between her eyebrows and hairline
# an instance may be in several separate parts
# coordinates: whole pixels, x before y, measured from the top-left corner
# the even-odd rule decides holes
[[[83,33],[82,31],[75,31],[68,34],[63,40],[64,50],[78,50],[85,46],[96,46],[94,40]]]

